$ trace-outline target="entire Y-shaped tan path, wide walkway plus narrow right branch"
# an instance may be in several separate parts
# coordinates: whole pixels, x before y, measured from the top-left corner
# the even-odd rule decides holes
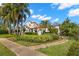
[[[60,40],[53,41],[51,43],[49,42],[49,43],[44,43],[41,45],[26,47],[18,43],[15,43],[13,41],[10,41],[7,38],[0,38],[0,43],[2,43],[8,49],[14,52],[17,56],[46,56],[45,54],[36,51],[36,49],[63,44],[67,41],[68,40],[66,39],[60,39]]]

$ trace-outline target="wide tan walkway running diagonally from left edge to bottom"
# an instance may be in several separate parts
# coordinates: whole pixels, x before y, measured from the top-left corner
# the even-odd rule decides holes
[[[32,48],[12,42],[7,38],[0,38],[0,43],[2,43],[11,51],[13,51],[17,56],[45,56],[45,54],[41,52],[35,51]]]

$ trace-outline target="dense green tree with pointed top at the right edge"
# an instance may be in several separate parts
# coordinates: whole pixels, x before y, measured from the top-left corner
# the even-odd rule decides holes
[[[61,35],[77,37],[79,33],[79,27],[77,24],[66,18],[65,21],[60,25]]]

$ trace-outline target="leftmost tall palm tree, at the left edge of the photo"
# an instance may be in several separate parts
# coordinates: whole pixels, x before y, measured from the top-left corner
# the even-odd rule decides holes
[[[2,18],[2,20],[4,21],[5,26],[8,29],[9,26],[9,20],[10,20],[10,11],[9,11],[9,5],[8,4],[3,4],[0,7],[0,17]],[[10,33],[10,30],[8,30],[8,32]]]

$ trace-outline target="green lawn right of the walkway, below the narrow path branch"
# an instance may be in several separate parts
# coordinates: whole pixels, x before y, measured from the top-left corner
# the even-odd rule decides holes
[[[74,40],[69,40],[68,42],[56,46],[51,46],[48,48],[39,49],[39,51],[49,55],[49,56],[66,56],[71,44],[75,42]]]

